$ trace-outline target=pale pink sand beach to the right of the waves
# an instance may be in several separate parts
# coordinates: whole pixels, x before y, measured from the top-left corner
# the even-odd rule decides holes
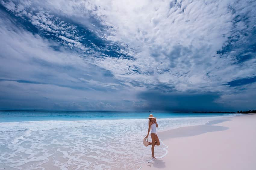
[[[158,132],[158,136],[168,146],[168,154],[142,170],[256,169],[256,114]]]

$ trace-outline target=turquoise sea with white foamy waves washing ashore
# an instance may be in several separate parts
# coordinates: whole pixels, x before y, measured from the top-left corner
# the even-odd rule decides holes
[[[158,131],[206,124],[238,114],[0,111],[0,167],[5,169],[139,169],[151,160],[144,147],[148,117]],[[161,142],[155,156],[167,153]],[[129,161],[128,161],[129,160]]]

